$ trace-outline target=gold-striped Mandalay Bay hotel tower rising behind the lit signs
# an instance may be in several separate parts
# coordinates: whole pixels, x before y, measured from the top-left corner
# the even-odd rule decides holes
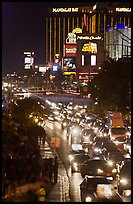
[[[87,4],[86,4],[87,5]],[[123,23],[131,28],[131,2],[93,2],[83,7],[49,8],[46,18],[46,63],[62,60],[66,39],[75,28],[100,33],[106,47],[106,27]]]

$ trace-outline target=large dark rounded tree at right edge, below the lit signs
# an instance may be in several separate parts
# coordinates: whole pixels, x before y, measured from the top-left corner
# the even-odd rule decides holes
[[[124,110],[131,106],[131,59],[105,61],[89,84],[93,101],[104,109]]]

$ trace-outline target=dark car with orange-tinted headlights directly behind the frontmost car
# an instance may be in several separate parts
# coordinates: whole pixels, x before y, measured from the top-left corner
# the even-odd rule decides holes
[[[81,176],[105,176],[115,179],[118,173],[117,167],[111,161],[104,159],[90,159],[85,161],[80,167]]]

